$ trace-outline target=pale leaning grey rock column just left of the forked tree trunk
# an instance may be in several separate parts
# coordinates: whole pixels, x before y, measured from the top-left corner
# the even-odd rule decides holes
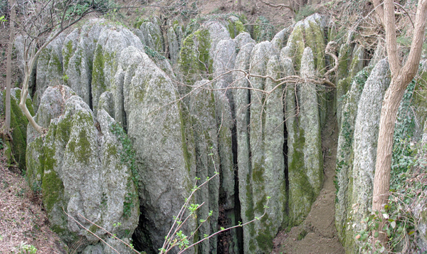
[[[351,224],[361,221],[371,206],[374,169],[376,162],[376,146],[378,142],[379,118],[384,93],[390,84],[389,63],[386,59],[379,61],[364,85],[357,107],[354,124],[354,161],[352,175],[349,176],[349,189],[352,189],[349,206],[354,205]],[[360,226],[350,228],[346,238],[352,238]]]

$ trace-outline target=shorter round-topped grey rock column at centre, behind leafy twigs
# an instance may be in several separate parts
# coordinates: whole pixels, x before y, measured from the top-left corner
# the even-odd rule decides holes
[[[219,152],[222,140],[221,132],[218,135],[217,118],[221,119],[221,116],[216,116],[216,105],[218,102],[216,102],[214,91],[209,90],[213,86],[209,80],[201,80],[194,85],[196,86],[194,90],[198,91],[194,92],[193,96],[191,96],[189,112],[193,120],[192,129],[194,130],[194,147],[197,158],[196,175],[201,179],[199,183],[201,184],[206,180],[206,177],[214,176],[215,171],[223,175],[224,171],[228,171],[228,169],[222,166],[223,159],[220,161]],[[198,89],[199,87],[201,89]],[[213,98],[215,99],[212,100]],[[223,126],[221,128],[226,129],[228,127]],[[227,137],[229,138],[230,136]],[[216,232],[218,223],[219,178],[220,176],[216,176],[215,179],[211,179],[208,186],[204,186],[196,194],[198,203],[205,203],[199,210],[199,218],[207,218],[209,211],[213,211],[209,223],[201,224],[201,234],[209,235]],[[216,236],[205,240],[201,243],[199,253],[216,252],[216,241]]]

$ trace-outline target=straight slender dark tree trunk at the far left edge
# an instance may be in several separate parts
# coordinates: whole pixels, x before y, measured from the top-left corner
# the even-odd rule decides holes
[[[12,51],[14,50],[14,37],[15,37],[15,0],[10,0],[9,5],[11,6],[11,18],[9,22],[9,45],[7,46],[7,60],[6,60],[6,108],[5,115],[6,120],[4,123],[4,131],[10,136],[11,129],[11,78],[12,78]]]

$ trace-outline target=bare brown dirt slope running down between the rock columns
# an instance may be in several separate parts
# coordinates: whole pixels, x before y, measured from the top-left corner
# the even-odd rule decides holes
[[[334,218],[335,160],[337,156],[337,119],[329,114],[322,130],[325,182],[310,213],[299,226],[288,233],[282,231],[275,238],[273,254],[342,254],[345,253],[337,237]]]

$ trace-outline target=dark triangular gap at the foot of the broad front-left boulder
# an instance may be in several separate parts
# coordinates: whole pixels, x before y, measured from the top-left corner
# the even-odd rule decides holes
[[[139,206],[139,221],[138,226],[132,234],[132,242],[135,250],[145,251],[147,254],[157,254],[153,249],[152,240],[149,237],[149,229],[147,228],[148,219],[144,216],[146,211],[143,206]]]

